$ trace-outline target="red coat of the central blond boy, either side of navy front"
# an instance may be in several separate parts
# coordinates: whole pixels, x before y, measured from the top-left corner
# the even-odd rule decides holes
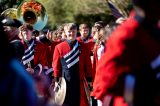
[[[80,55],[79,55],[79,75],[80,75],[80,106],[89,106],[87,97],[84,90],[84,77],[90,77],[90,72],[92,70],[91,66],[91,60],[86,51],[86,48],[83,43],[79,43],[80,47]],[[59,77],[61,76],[61,58],[69,53],[71,51],[71,48],[67,41],[64,41],[60,44],[58,44],[55,47],[54,55],[53,55],[53,70],[54,70],[54,76]]]

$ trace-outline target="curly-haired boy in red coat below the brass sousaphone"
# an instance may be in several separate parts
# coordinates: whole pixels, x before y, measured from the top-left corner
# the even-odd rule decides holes
[[[19,37],[25,47],[22,63],[26,66],[28,72],[34,73],[36,67],[39,67],[39,72],[41,72],[46,65],[45,45],[32,39],[33,27],[30,24],[23,24],[19,31]]]

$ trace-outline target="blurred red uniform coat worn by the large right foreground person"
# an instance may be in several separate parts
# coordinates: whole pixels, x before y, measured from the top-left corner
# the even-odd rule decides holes
[[[120,25],[107,42],[93,84],[92,96],[97,99],[103,100],[106,95],[117,96],[115,91],[110,91],[116,86],[119,76],[150,64],[160,53],[160,43],[133,17]],[[113,105],[126,106],[122,95],[118,99],[115,97]]]

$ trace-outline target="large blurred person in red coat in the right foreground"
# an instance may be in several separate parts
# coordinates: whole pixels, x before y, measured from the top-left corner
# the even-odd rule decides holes
[[[148,71],[141,72],[142,67],[150,67],[152,70],[150,72],[153,72],[160,65],[159,58],[157,58],[160,54],[160,28],[157,27],[160,19],[160,2],[159,0],[134,0],[134,2],[135,10],[112,33],[106,43],[107,49],[96,69],[92,96],[102,100],[104,106],[107,106],[108,96],[112,96],[110,106],[128,106],[129,102],[132,102],[131,105],[134,106],[159,106],[155,103],[159,99],[153,100],[152,98],[152,94],[156,94],[153,90],[154,86],[147,86],[144,89],[142,89],[143,86],[137,88],[142,89],[142,93],[146,89],[149,91],[143,96],[139,92],[139,94],[134,95],[133,93],[124,98],[126,91],[123,75],[142,73],[141,77],[143,77]],[[148,82],[150,78],[151,76],[148,75],[144,83],[151,84]],[[129,83],[134,83],[134,79],[131,77],[130,79]]]

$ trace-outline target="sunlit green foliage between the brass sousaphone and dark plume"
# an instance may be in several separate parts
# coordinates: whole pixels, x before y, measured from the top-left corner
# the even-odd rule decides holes
[[[39,1],[43,2],[43,0]],[[108,20],[111,14],[105,0],[46,0],[43,4],[51,27],[67,22],[88,22],[91,25],[95,21]],[[107,17],[104,18],[104,14]]]

